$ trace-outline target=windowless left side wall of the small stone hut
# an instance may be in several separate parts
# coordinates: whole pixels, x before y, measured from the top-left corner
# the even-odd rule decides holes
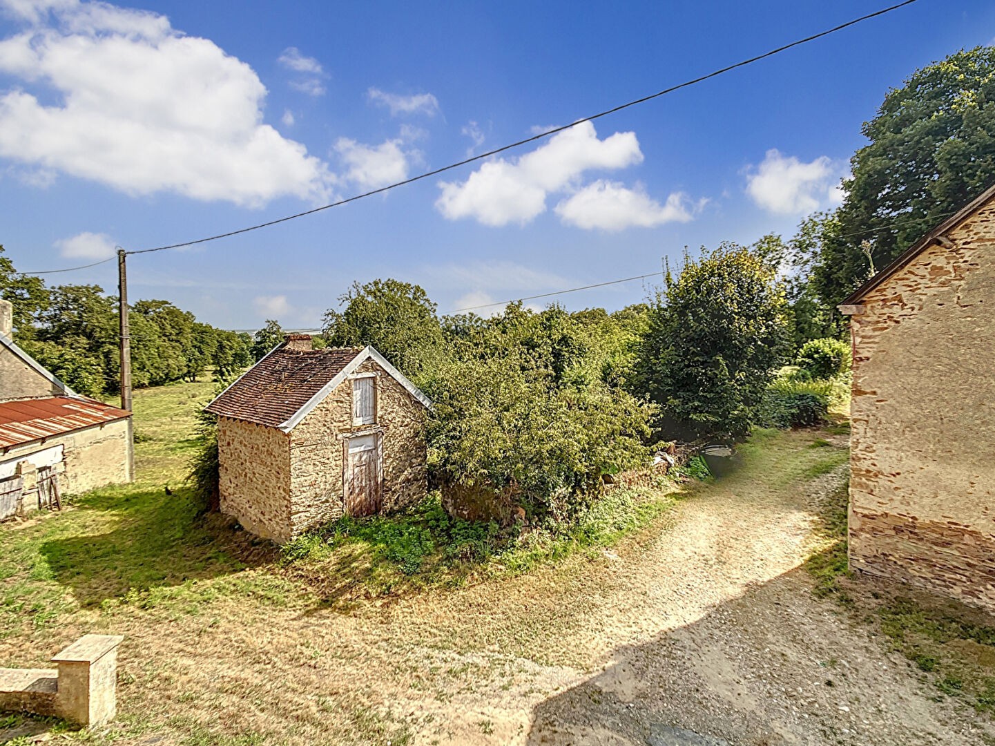
[[[286,542],[291,530],[290,435],[276,427],[219,417],[221,512],[264,539]]]

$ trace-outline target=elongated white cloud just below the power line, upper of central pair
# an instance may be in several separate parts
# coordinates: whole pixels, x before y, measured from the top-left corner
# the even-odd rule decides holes
[[[624,168],[643,160],[635,132],[598,139],[590,122],[557,132],[514,160],[484,163],[463,182],[442,182],[436,208],[450,220],[475,218],[485,225],[525,224],[546,209],[546,196],[576,182],[592,168]]]

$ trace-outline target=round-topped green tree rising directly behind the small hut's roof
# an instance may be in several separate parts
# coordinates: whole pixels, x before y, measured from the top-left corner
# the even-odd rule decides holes
[[[442,358],[443,335],[436,305],[418,285],[399,280],[352,284],[339,297],[342,311],[324,315],[324,338],[334,347],[372,345],[411,378],[430,371]]]

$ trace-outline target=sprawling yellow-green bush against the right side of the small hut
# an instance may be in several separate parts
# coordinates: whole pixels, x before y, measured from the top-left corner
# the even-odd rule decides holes
[[[437,374],[429,463],[448,497],[491,493],[497,514],[514,503],[566,520],[600,496],[603,474],[646,463],[651,407],[601,382],[550,383],[513,358]]]

